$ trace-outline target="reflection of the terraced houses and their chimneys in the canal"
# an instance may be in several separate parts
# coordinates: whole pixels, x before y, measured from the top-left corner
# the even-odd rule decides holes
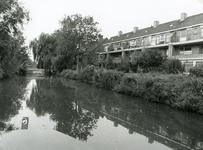
[[[136,117],[132,118],[128,112],[123,111],[121,108],[108,107],[103,104],[100,112],[103,113],[107,119],[113,121],[115,127],[122,125],[129,129],[129,134],[138,133],[144,135],[148,137],[148,143],[150,144],[157,141],[177,150],[203,149],[203,140],[199,141],[199,139],[191,137],[192,135],[190,136],[186,133],[173,130],[168,126],[155,125],[155,122],[147,124],[143,121],[141,123]],[[140,114],[142,113],[140,110]]]

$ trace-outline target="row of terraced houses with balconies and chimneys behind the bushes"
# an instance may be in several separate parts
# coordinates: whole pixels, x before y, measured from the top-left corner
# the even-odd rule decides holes
[[[187,17],[181,13],[180,18],[139,29],[134,27],[128,33],[118,32],[103,43],[103,49],[97,52],[97,63],[104,62],[109,56],[115,63],[134,51],[157,49],[165,53],[169,59],[179,59],[186,66],[203,62],[203,13]]]

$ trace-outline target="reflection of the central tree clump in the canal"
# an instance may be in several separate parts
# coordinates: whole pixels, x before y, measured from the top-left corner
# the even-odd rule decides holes
[[[27,106],[37,116],[50,115],[55,121],[57,131],[70,135],[81,141],[87,141],[96,128],[95,116],[77,102],[74,88],[66,88],[57,80],[36,80]]]

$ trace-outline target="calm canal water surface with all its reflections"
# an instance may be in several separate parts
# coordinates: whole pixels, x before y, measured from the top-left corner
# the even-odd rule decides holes
[[[203,115],[64,78],[0,81],[0,146],[6,131],[22,129],[55,130],[97,150],[203,149]]]

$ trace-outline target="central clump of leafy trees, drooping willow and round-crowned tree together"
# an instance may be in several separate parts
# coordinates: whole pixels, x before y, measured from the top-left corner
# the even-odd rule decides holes
[[[74,64],[78,69],[79,55],[87,52],[99,39],[98,23],[93,17],[75,14],[65,16],[59,23],[60,29],[50,35],[41,33],[29,46],[38,67],[49,72],[71,69]]]

